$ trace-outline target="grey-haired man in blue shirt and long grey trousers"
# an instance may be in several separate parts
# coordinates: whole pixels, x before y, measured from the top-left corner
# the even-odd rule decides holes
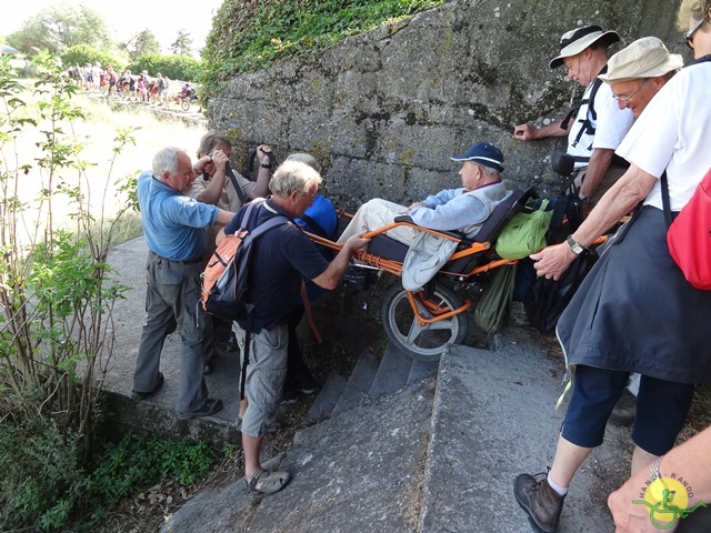
[[[153,158],[152,172],[138,179],[138,201],[148,244],[146,323],[133,374],[133,399],[146,400],[163,384],[159,372],[166,336],[180,329],[182,339],[177,413],[181,420],[222,409],[208,398],[203,376],[206,315],[199,306],[206,228],[227,224],[234,213],[197,202],[184,192],[196,179],[188,153],[164,148]]]

